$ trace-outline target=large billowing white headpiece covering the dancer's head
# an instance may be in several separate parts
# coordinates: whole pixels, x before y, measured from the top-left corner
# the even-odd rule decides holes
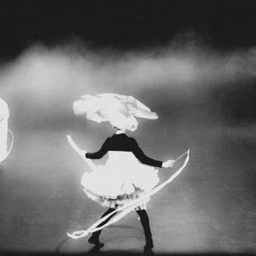
[[[132,96],[114,93],[86,94],[82,100],[75,101],[75,115],[86,115],[86,119],[97,123],[109,121],[119,129],[135,131],[138,123],[135,117],[157,119],[157,114],[151,112],[143,103]]]

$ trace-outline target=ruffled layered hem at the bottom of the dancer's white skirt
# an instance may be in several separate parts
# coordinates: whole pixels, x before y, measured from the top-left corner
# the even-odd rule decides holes
[[[133,192],[132,194],[123,194],[123,195],[117,196],[116,198],[107,198],[105,196],[99,196],[97,194],[94,194],[92,191],[86,188],[84,188],[83,191],[86,194],[86,196],[88,196],[88,198],[92,199],[94,202],[97,202],[101,206],[108,207],[108,208],[115,208],[115,209],[118,209],[121,206],[127,204],[128,202],[131,202],[139,198],[139,196],[142,196],[143,194],[145,194],[143,190],[140,190],[139,188],[135,188],[135,192]],[[148,197],[147,200],[143,202],[143,204],[137,206],[135,210],[145,210],[147,208],[147,202],[149,202],[149,200],[150,200],[150,197]]]

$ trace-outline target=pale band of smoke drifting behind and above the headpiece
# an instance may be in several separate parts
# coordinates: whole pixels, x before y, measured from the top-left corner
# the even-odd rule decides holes
[[[37,44],[1,66],[0,88],[15,119],[29,124],[70,117],[82,94],[131,94],[152,109],[170,106],[170,100],[177,107],[218,88],[245,86],[255,76],[256,48],[217,52],[174,41],[165,48],[97,52],[72,43]]]

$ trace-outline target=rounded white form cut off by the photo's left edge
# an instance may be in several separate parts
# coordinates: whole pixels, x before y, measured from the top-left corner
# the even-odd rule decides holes
[[[8,105],[3,99],[0,98],[0,162],[2,162],[7,155],[8,119]]]

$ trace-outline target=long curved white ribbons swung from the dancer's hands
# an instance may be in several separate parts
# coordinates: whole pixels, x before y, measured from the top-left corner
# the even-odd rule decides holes
[[[86,163],[91,168],[93,168],[94,164],[92,163],[92,161],[90,161],[90,159],[87,159],[84,154],[81,154],[81,152],[83,152],[83,151],[76,145],[76,143],[74,143],[74,141],[72,140],[70,135],[67,135],[67,138],[68,138],[68,142],[74,148],[76,153],[78,153],[82,157],[82,159],[84,159],[86,161]],[[167,184],[172,182],[184,170],[184,168],[188,164],[188,161],[190,159],[189,153],[190,153],[190,149],[188,149],[188,151],[186,151],[184,154],[180,155],[180,157],[178,157],[176,159],[176,161],[177,161],[183,155],[187,155],[186,159],[184,161],[184,164],[182,165],[182,167],[179,168],[179,170],[177,170],[174,174],[172,174],[172,176],[170,176],[170,178],[168,178],[168,180],[166,180],[162,184],[156,186],[155,188],[153,188],[153,190],[151,190],[150,192],[148,192],[145,195],[141,196],[140,198],[137,198],[137,199],[135,199],[135,200],[133,200],[131,202],[128,202],[127,204],[125,204],[125,205],[121,206],[120,208],[114,210],[113,212],[107,214],[106,216],[104,216],[103,218],[101,218],[100,220],[95,222],[92,226],[90,226],[86,231],[74,231],[72,234],[67,233],[68,237],[70,237],[72,239],[80,239],[81,237],[86,237],[86,235],[88,235],[88,233],[94,233],[95,231],[99,231],[101,229],[104,229],[105,227],[107,227],[107,226],[117,222],[117,220],[120,220],[121,218],[123,218],[123,216],[127,215],[129,212],[134,210],[134,208],[136,208],[137,206],[139,206],[140,204],[145,202],[145,200],[147,200],[147,198],[149,198],[149,196],[152,196],[153,194],[155,194],[159,190],[162,190],[162,188],[164,188]],[[116,216],[114,216],[113,218],[111,218],[111,220],[109,220],[109,222],[107,222],[105,225],[103,225],[101,227],[97,227],[103,221],[107,220],[107,218],[109,218],[110,216],[112,216],[116,212],[120,212],[120,213],[117,214]]]

